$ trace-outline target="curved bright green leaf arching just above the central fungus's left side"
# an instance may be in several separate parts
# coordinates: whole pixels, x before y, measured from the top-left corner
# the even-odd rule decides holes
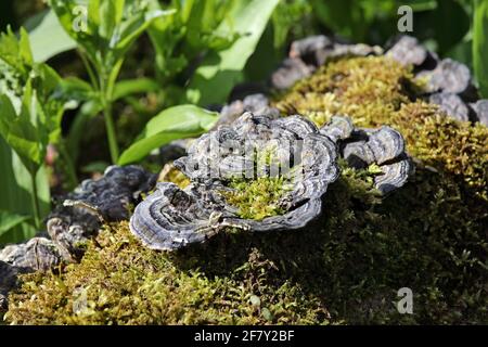
[[[145,125],[138,140],[121,154],[118,165],[138,162],[172,140],[200,136],[208,131],[217,119],[218,113],[194,105],[167,108]]]

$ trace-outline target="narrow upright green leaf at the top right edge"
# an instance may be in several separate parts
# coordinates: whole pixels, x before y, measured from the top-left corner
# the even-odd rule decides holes
[[[479,91],[488,98],[488,1],[476,0],[473,23],[473,64]]]

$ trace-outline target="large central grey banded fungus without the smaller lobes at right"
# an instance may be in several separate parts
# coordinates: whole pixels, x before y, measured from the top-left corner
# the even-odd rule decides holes
[[[335,143],[300,116],[245,113],[195,140],[189,155],[175,162],[192,183],[184,190],[159,183],[136,207],[130,229],[150,248],[176,249],[204,242],[224,227],[303,228],[320,215],[322,195],[338,176],[336,152]],[[277,208],[244,218],[230,196],[260,180],[280,183],[279,198],[271,202]],[[269,198],[264,194],[253,198]]]

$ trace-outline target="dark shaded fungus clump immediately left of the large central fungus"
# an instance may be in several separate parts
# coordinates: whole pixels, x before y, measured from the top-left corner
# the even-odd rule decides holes
[[[84,244],[105,221],[129,218],[129,206],[151,190],[157,177],[138,166],[111,166],[99,180],[86,180],[48,217],[48,233],[61,256],[78,260]]]

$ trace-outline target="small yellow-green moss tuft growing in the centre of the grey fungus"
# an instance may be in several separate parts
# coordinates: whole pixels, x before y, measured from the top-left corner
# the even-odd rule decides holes
[[[235,179],[229,182],[233,191],[221,194],[227,202],[239,208],[237,215],[245,219],[262,220],[266,217],[283,215],[279,205],[287,191],[283,177],[259,177],[255,180]]]

